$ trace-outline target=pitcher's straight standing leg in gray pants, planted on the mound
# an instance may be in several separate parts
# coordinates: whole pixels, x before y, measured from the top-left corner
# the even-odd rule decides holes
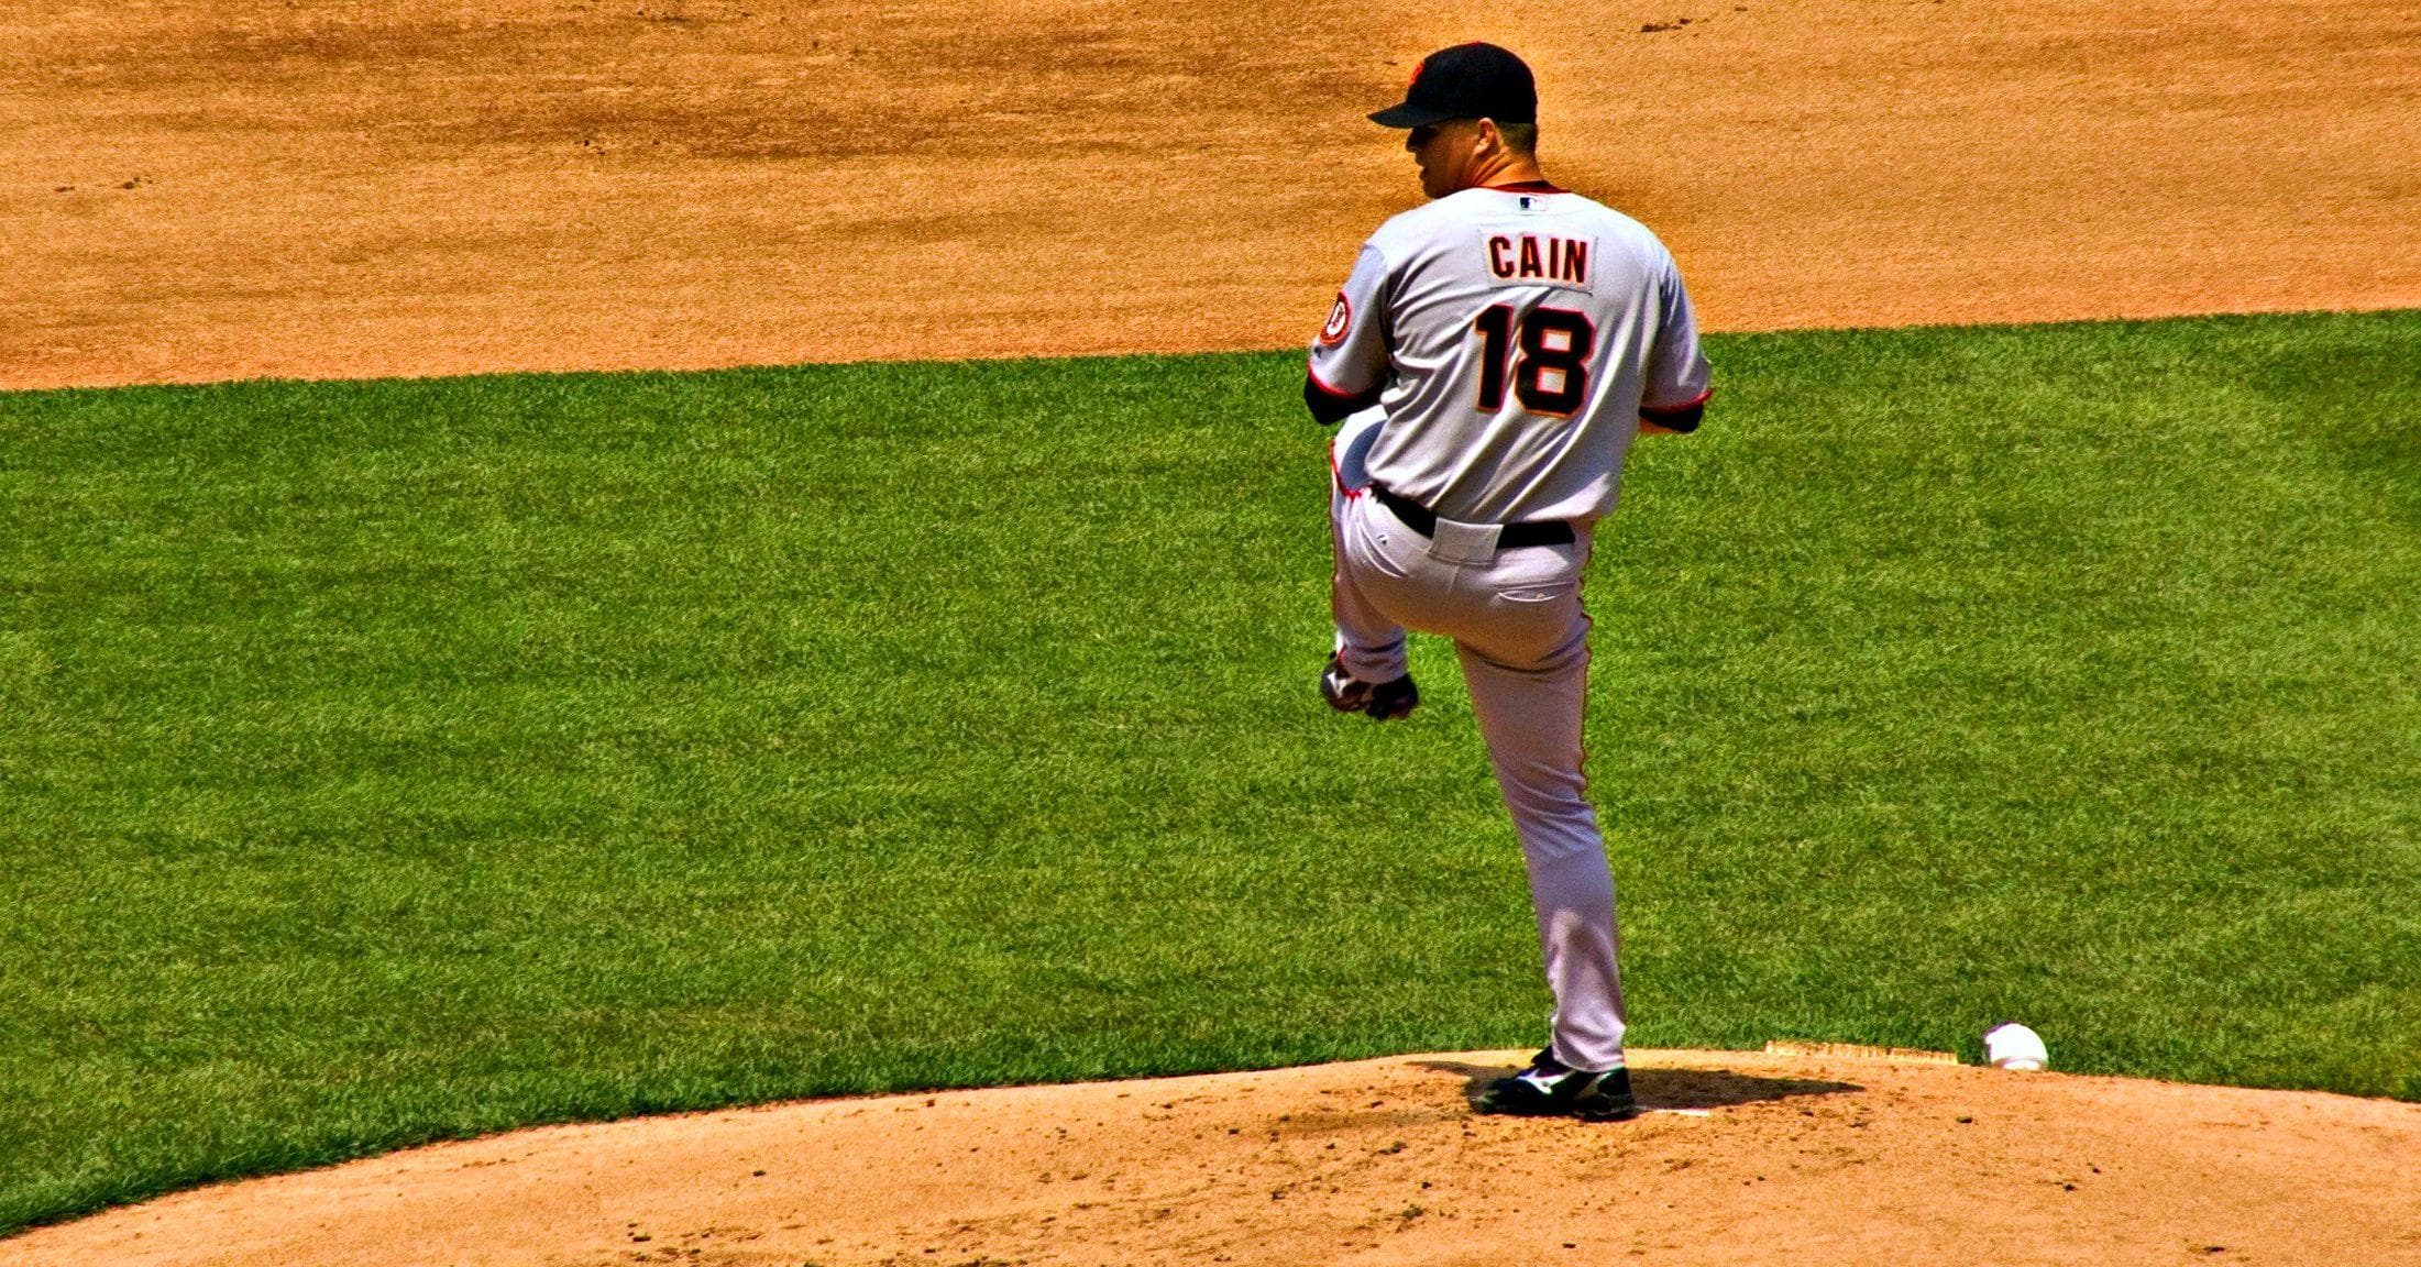
[[[1547,550],[1525,550],[1516,567],[1552,567]],[[1586,550],[1566,555],[1566,577],[1499,577],[1491,618],[1457,637],[1472,712],[1489,746],[1496,787],[1513,814],[1513,831],[1530,872],[1530,904],[1554,991],[1549,1054],[1566,1068],[1622,1066],[1620,940],[1615,879],[1605,865],[1598,812],[1588,804],[1581,768],[1581,724],[1588,695],[1588,615],[1581,610],[1578,567]]]

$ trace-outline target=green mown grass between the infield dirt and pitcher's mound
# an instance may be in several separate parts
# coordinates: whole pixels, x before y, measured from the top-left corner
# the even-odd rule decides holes
[[[2421,313],[1712,342],[1591,579],[1641,1047],[2421,1097]],[[1542,1037],[1293,354],[0,395],[0,1228]]]

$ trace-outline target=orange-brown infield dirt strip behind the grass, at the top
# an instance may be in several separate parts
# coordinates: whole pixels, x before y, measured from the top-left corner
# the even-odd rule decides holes
[[[2399,0],[0,0],[0,388],[1293,346],[1540,68],[1716,329],[2421,305]]]

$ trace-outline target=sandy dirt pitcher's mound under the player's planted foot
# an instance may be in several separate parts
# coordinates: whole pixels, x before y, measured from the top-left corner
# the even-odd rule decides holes
[[[1472,1117],[1520,1059],[550,1126],[186,1192],[0,1260],[2421,1262],[2421,1105],[1639,1051],[1637,1122]]]

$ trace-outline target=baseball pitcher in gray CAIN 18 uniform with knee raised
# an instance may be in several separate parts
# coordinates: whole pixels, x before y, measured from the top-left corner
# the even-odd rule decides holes
[[[1431,53],[1370,121],[1409,128],[1433,201],[1370,235],[1312,342],[1302,400],[1344,424],[1319,690],[1404,717],[1421,700],[1404,630],[1455,640],[1554,991],[1547,1049],[1479,1110],[1634,1117],[1615,882],[1581,773],[1581,572],[1632,436],[1697,429],[1707,359],[1663,242],[1540,174],[1520,58]]]

